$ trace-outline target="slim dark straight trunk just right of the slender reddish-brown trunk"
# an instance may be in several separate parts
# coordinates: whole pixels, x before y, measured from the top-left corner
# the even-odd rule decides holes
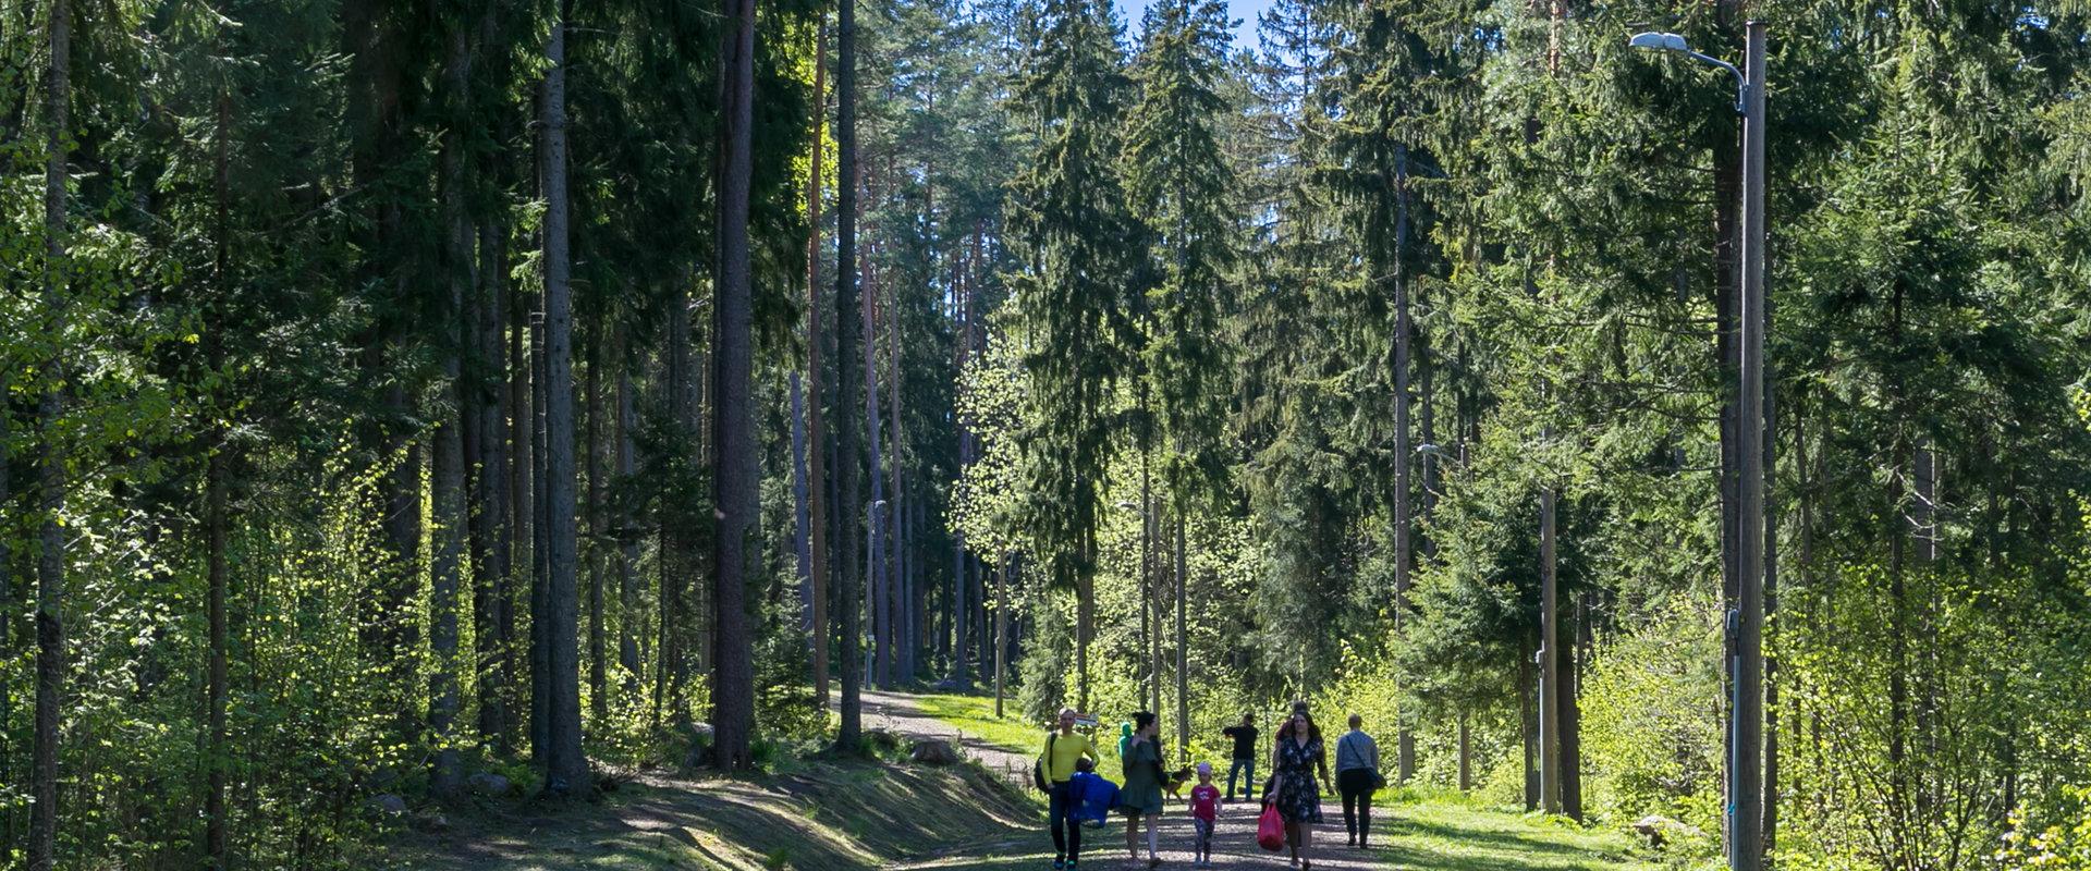
[[[849,420],[855,409],[855,347],[847,324],[857,315],[857,0],[836,2],[836,67],[834,67],[834,146],[836,146],[836,203],[834,203],[834,476],[843,503],[836,508],[841,535],[834,551],[841,595],[836,614],[841,618],[841,668],[843,668],[843,723],[836,733],[836,748],[853,754],[859,750],[864,733],[864,708],[859,702],[857,673],[857,422]]]

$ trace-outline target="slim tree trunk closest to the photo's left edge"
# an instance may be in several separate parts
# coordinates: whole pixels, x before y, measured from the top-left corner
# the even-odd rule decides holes
[[[69,157],[73,13],[67,0],[50,0],[46,36],[50,73],[44,77],[44,315],[50,334],[65,328],[65,163]],[[42,489],[36,560],[36,746],[29,760],[29,871],[54,871],[59,863],[59,706],[65,685],[65,455],[59,424],[65,418],[65,370],[59,353],[42,359],[36,449]]]

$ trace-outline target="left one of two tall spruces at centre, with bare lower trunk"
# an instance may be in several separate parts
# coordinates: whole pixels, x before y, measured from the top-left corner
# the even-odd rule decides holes
[[[1115,453],[1112,401],[1131,372],[1144,228],[1125,209],[1119,130],[1127,77],[1104,0],[1048,0],[1012,86],[1037,152],[1012,182],[1008,284],[1025,372],[1027,522],[1056,587],[1077,597],[1077,706],[1089,702],[1096,526]]]

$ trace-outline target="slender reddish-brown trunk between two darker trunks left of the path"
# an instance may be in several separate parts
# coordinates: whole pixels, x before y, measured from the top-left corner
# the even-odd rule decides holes
[[[820,157],[826,150],[822,140],[824,115],[828,111],[826,90],[828,75],[828,21],[822,15],[818,33],[813,36],[813,152],[809,157],[811,171],[805,178],[805,376],[807,376],[807,480],[811,482],[811,493],[807,495],[807,524],[811,526],[811,602],[813,610],[813,633],[809,637],[813,645],[813,704],[820,710],[828,708],[828,583],[830,574],[830,547],[828,533],[834,528],[830,520],[832,505],[828,503],[828,428],[826,411],[828,403],[826,374],[822,372],[822,351],[828,347],[828,322],[822,317],[820,309]]]

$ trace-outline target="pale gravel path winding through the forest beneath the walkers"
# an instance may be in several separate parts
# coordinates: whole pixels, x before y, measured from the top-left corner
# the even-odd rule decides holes
[[[960,737],[960,729],[924,714],[916,700],[905,693],[864,691],[864,727],[887,729],[910,739],[939,737],[949,741]],[[979,758],[989,769],[1008,773],[1025,790],[1031,787],[1029,752],[999,748],[972,735],[960,737],[960,746],[968,756]],[[1186,787],[1184,794],[1188,796],[1190,790]],[[1257,815],[1261,810],[1261,806],[1246,802],[1221,808],[1219,825],[1213,831],[1213,869],[1286,869],[1284,850],[1265,852],[1257,846]],[[1386,810],[1382,810],[1380,819],[1374,821],[1374,829],[1384,831],[1384,817]],[[1326,823],[1317,825],[1313,833],[1315,869],[1361,871],[1393,867],[1393,863],[1386,863],[1374,852],[1342,846],[1342,800],[1336,796],[1324,796],[1322,819],[1326,819]],[[1186,802],[1165,798],[1161,823],[1163,869],[1190,869],[1194,842],[1190,806]],[[1112,817],[1110,825],[1104,829],[1083,829],[1081,856],[1081,867],[1085,869],[1146,869],[1146,833],[1142,833],[1140,858],[1127,858],[1125,819]],[[1050,869],[1052,838],[1046,833],[1046,821],[1041,815],[1037,838],[1031,842],[979,844],[972,850],[960,850],[937,861],[905,867],[951,871]]]

